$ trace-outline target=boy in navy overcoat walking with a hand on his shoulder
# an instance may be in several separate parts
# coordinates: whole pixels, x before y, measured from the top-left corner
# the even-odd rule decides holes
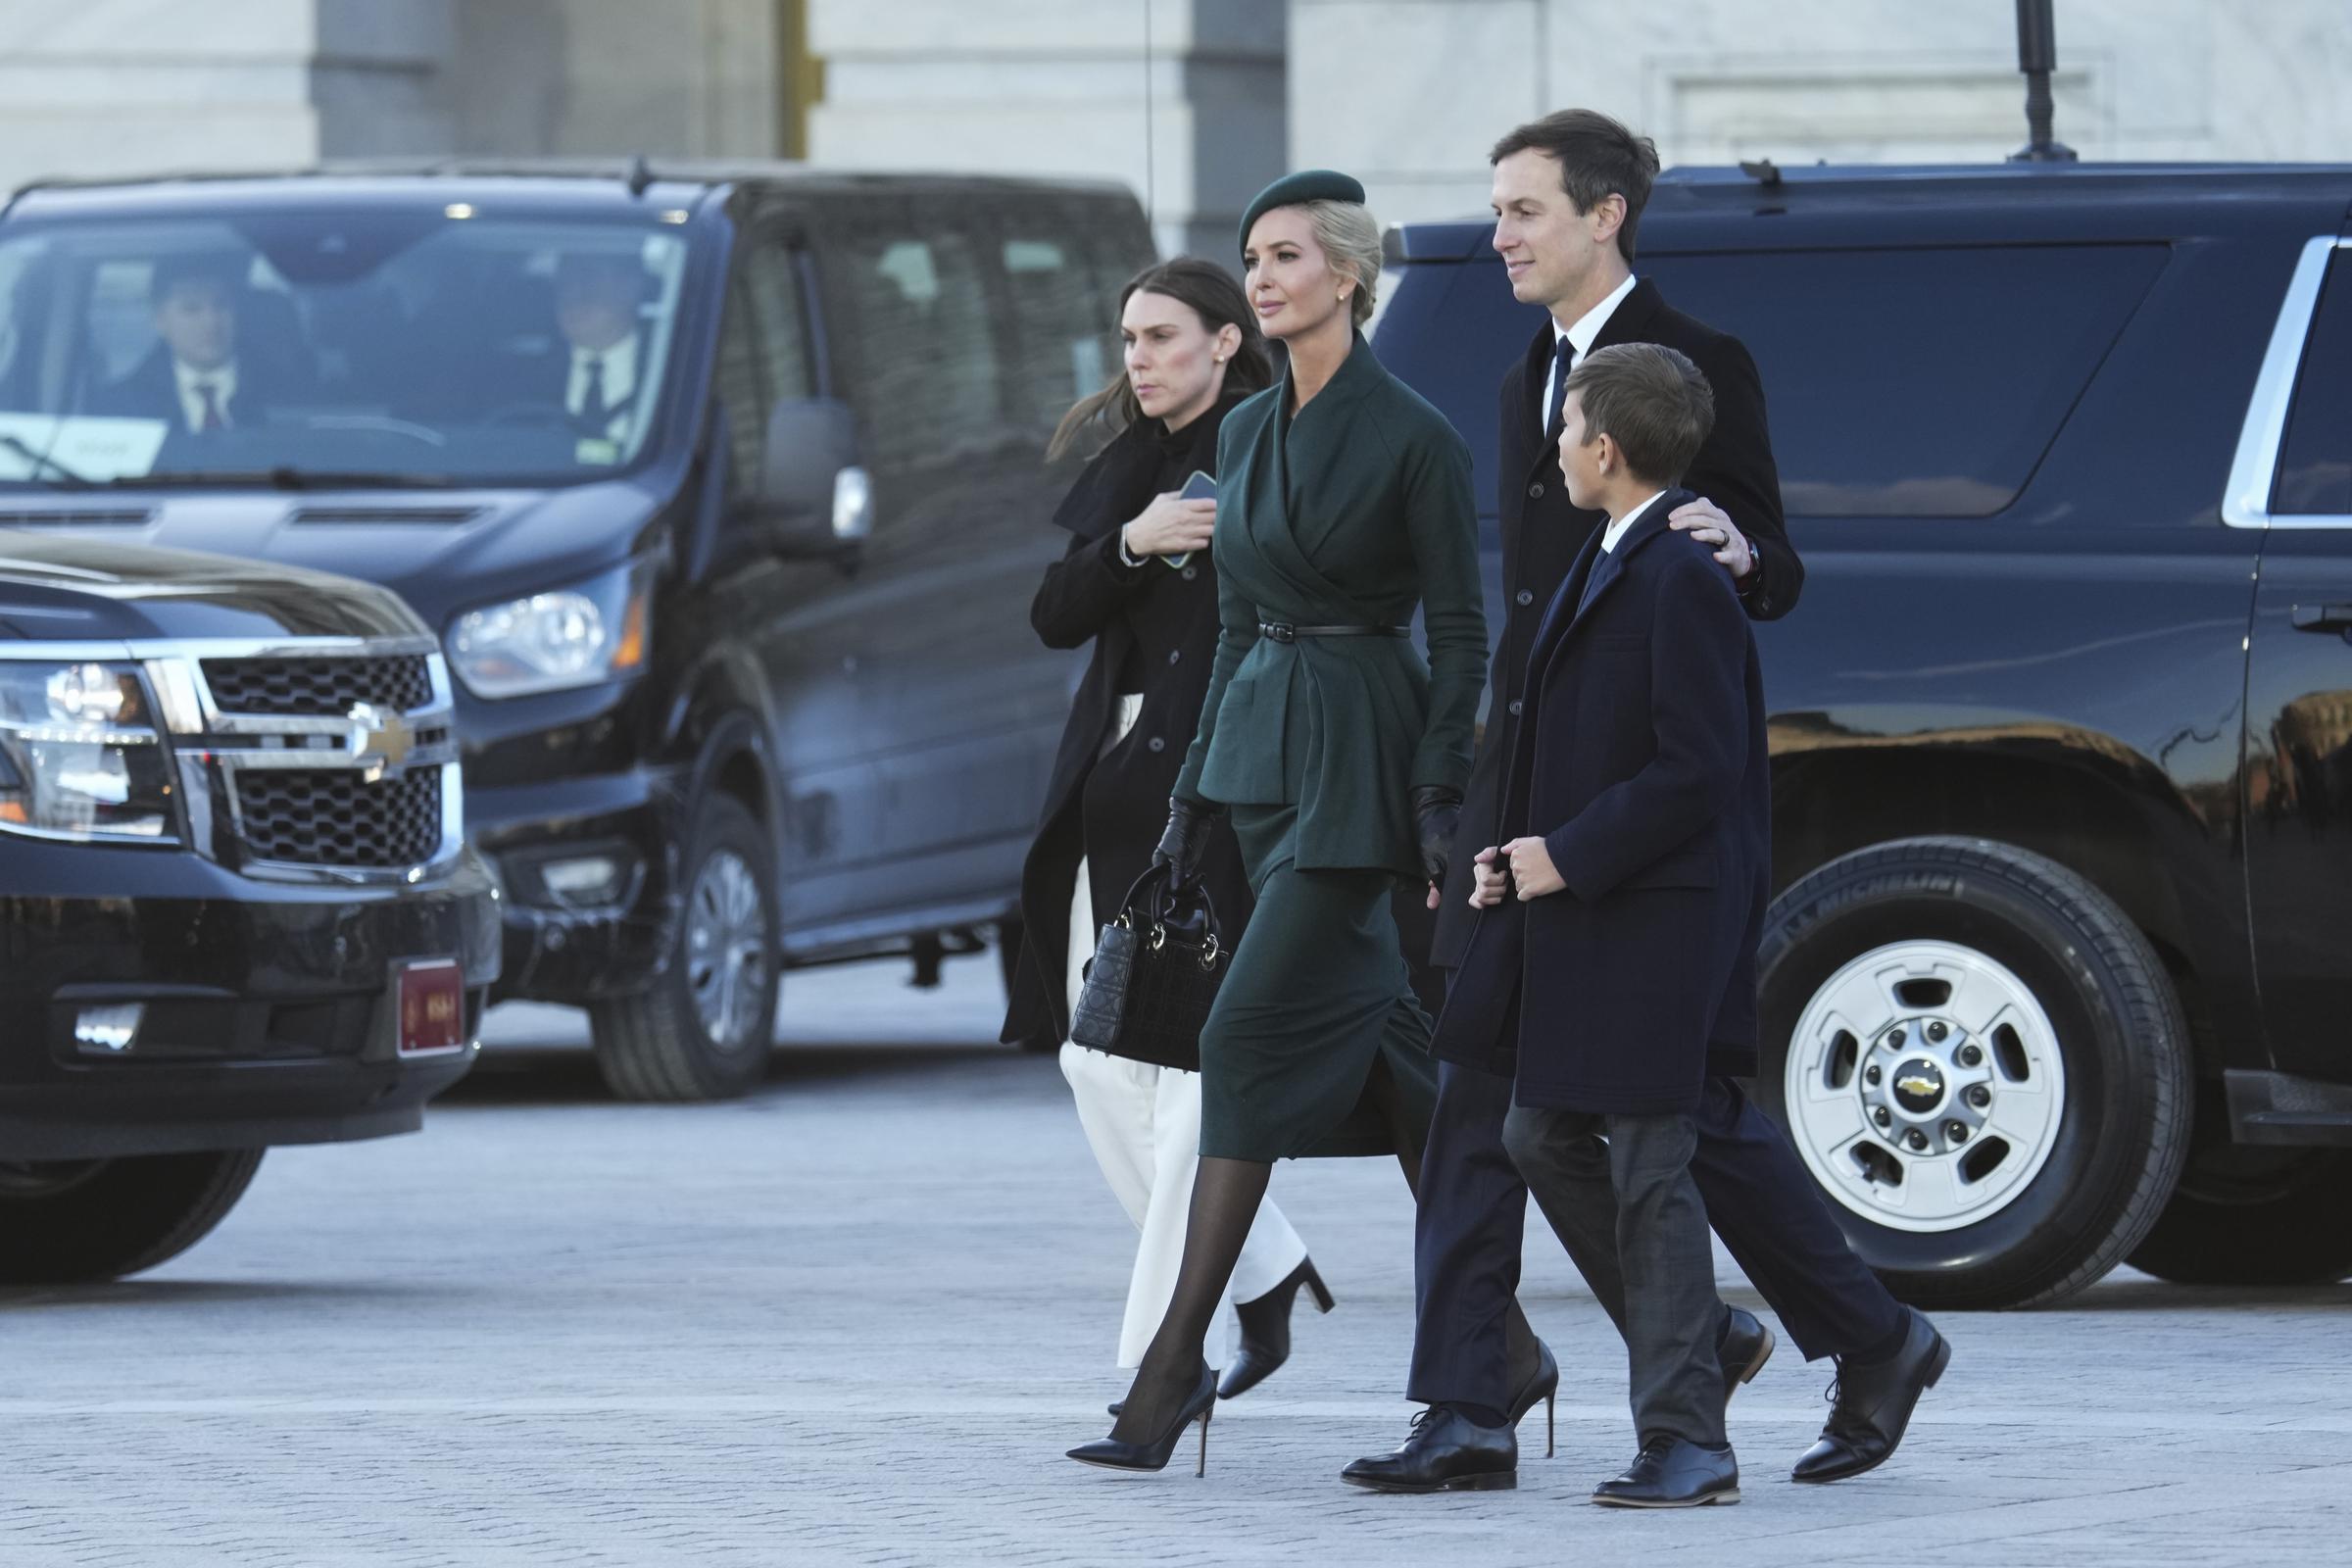
[[[1609,527],[1536,632],[1503,783],[1519,837],[1477,856],[1482,914],[1439,1023],[1442,1041],[1517,1039],[1512,1161],[1545,1213],[1616,1227],[1642,1448],[1592,1500],[1618,1507],[1740,1495],[1691,1112],[1710,1058],[1755,1051],[1771,830],[1748,616],[1668,529],[1712,418],[1672,348],[1599,348],[1569,376],[1562,473]],[[1599,1180],[1576,1157],[1595,1133]]]

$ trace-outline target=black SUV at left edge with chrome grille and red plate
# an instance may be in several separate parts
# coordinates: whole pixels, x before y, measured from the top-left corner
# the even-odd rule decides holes
[[[449,726],[381,588],[0,534],[0,1284],[153,1267],[268,1145],[463,1077],[499,910]]]

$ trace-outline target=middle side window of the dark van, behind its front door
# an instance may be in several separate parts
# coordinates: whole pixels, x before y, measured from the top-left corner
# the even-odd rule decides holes
[[[934,463],[1004,440],[997,322],[969,235],[913,223],[842,240],[842,310],[856,355],[861,428],[877,465]]]

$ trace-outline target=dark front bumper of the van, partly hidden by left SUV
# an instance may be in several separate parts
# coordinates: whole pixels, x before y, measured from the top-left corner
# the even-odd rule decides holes
[[[496,999],[576,1004],[652,985],[677,924],[684,771],[468,788],[466,823],[503,891]]]

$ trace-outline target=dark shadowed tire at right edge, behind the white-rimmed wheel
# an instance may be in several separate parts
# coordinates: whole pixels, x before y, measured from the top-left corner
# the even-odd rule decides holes
[[[2352,1276],[2352,1150],[2199,1147],[2126,1262],[2185,1286]]]

